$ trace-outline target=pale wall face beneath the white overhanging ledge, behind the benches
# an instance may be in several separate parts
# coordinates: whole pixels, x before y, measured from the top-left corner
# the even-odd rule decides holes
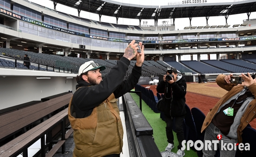
[[[66,77],[51,77],[51,79],[37,79],[33,76],[0,77],[0,109],[41,100],[72,89],[73,81]]]

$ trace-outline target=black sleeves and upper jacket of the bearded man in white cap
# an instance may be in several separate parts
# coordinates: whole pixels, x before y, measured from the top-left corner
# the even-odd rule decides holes
[[[129,64],[130,61],[122,57],[99,85],[91,85],[83,80],[78,81],[76,89],[82,88],[76,90],[72,100],[76,118],[90,116],[93,108],[105,101],[112,93],[115,98],[119,98],[134,88],[141,76],[142,67],[134,65],[132,73],[128,79],[124,80]]]

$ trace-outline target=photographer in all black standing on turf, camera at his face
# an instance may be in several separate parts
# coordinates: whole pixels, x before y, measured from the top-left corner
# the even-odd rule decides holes
[[[163,80],[157,85],[157,92],[164,93],[162,102],[165,105],[165,129],[168,142],[165,150],[170,152],[174,148],[173,118],[175,117],[175,127],[179,142],[177,154],[180,157],[185,155],[184,150],[181,151],[181,142],[184,140],[182,123],[186,115],[186,90],[187,84],[185,77],[178,74],[176,68],[173,67],[167,68],[166,75],[163,76]]]

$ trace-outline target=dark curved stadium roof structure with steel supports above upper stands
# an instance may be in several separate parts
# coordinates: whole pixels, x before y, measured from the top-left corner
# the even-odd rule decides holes
[[[229,15],[247,13],[248,19],[251,12],[256,12],[255,0],[244,0],[227,3],[192,3],[154,6],[120,3],[112,0],[52,0],[54,9],[57,3],[76,8],[78,16],[80,11],[97,13],[99,20],[101,16],[114,16],[129,19],[154,19],[157,24],[158,19],[173,19],[192,17],[206,17],[207,23],[210,16],[225,16],[226,21]],[[226,22],[227,23],[227,22]]]

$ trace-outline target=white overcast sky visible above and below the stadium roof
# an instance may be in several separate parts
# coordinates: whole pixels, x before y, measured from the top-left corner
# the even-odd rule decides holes
[[[29,0],[33,3],[37,3],[40,5],[43,5],[45,7],[54,9],[53,2],[50,0]],[[130,3],[130,4],[138,4],[138,5],[168,5],[168,2],[177,2],[182,0],[114,0],[121,3]],[[208,0],[207,3],[223,3],[223,2],[233,2],[234,0]],[[71,15],[78,16],[78,12],[75,8],[67,7],[65,5],[57,4],[56,6],[57,11],[65,12]],[[89,12],[81,11],[80,17],[84,17],[91,20],[99,21],[99,15]],[[256,12],[252,12],[250,19],[256,18]],[[227,19],[227,23],[229,25],[234,24],[242,24],[243,20],[247,19],[246,13],[244,14],[238,14],[238,15],[230,15]],[[159,19],[158,24],[161,25],[162,21],[168,21],[169,24],[172,22],[171,19]],[[116,17],[109,17],[109,16],[103,16],[101,17],[102,22],[108,22],[108,23],[116,23]],[[142,20],[147,21],[148,25],[153,25],[154,20]],[[217,16],[217,17],[210,17],[208,20],[209,25],[225,25],[225,17],[224,16]],[[127,25],[139,25],[138,19],[123,19],[119,18],[118,24],[127,24]],[[192,26],[205,26],[206,25],[206,19],[205,17],[194,17],[191,21]],[[175,28],[177,29],[183,29],[184,27],[189,26],[189,19],[188,18],[180,18],[175,20]]]

